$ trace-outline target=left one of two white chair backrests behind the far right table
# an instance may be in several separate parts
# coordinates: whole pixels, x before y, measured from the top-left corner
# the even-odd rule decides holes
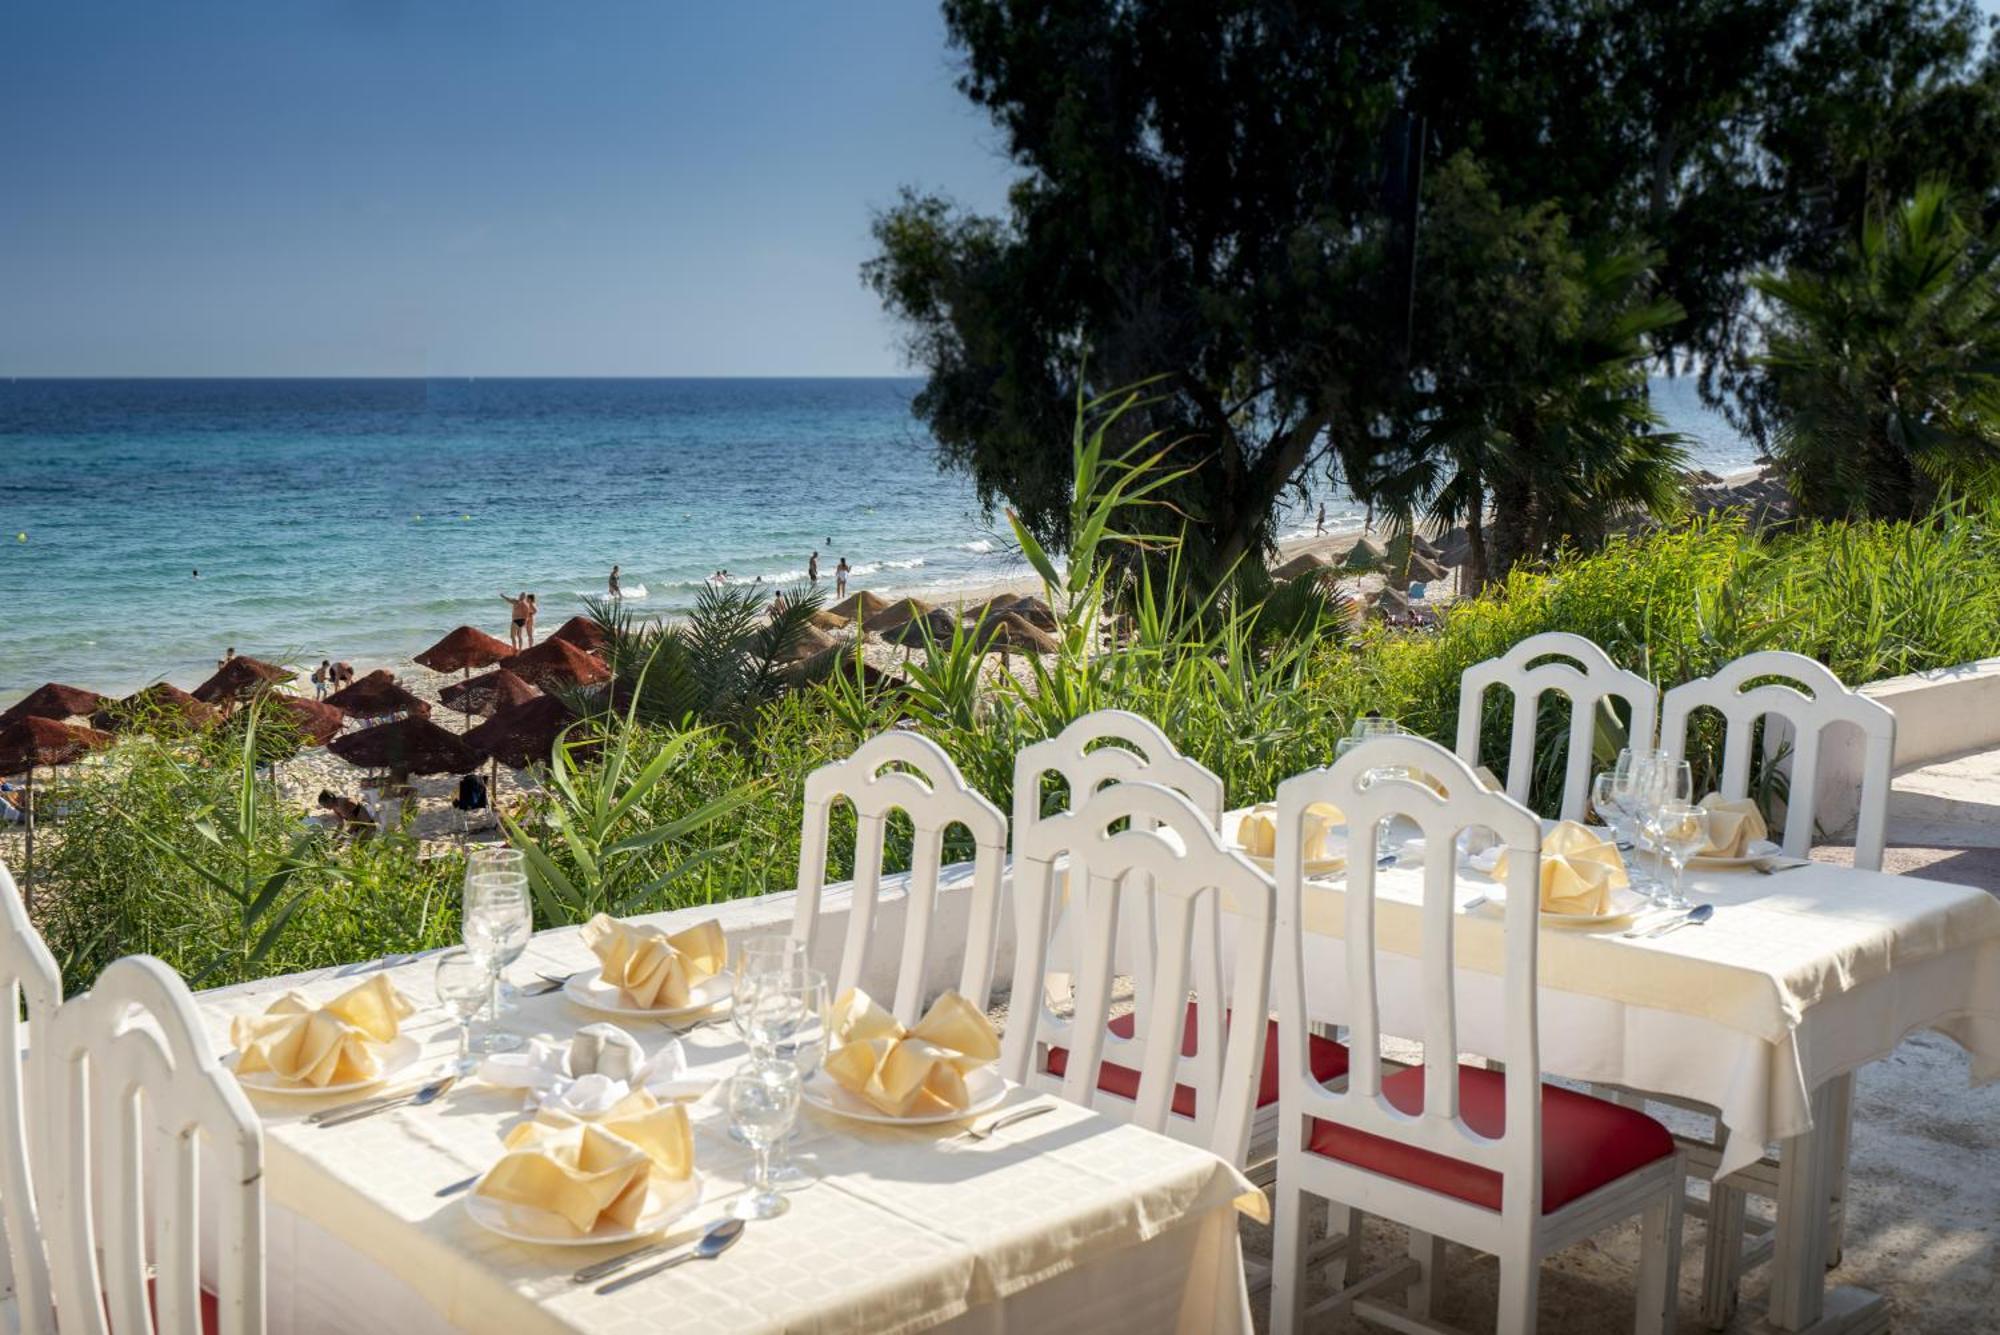
[[[1480,721],[1486,691],[1506,685],[1514,693],[1514,731],[1508,741],[1506,795],[1528,801],[1534,781],[1534,725],[1546,691],[1570,697],[1570,751],[1562,769],[1562,819],[1584,817],[1590,801],[1590,753],[1598,731],[1598,703],[1608,695],[1632,705],[1632,741],[1652,747],[1660,693],[1652,681],[1626,671],[1590,640],[1568,632],[1528,636],[1500,658],[1474,664],[1458,677],[1458,757],[1480,763]]]

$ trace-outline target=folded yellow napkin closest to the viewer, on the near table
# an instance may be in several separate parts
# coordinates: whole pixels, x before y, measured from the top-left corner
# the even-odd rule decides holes
[[[694,1171],[688,1109],[642,1089],[600,1121],[544,1109],[508,1133],[506,1149],[472,1191],[540,1211],[578,1237],[598,1223],[634,1227],[654,1181]]]

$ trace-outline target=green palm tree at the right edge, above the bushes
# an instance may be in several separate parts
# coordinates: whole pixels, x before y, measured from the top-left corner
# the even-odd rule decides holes
[[[2000,498],[2000,236],[1926,182],[1828,274],[1760,274],[1774,454],[1814,518]]]

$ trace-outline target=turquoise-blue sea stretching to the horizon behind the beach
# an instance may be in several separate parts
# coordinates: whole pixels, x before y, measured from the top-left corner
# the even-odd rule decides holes
[[[230,648],[406,660],[470,622],[540,630],[620,566],[640,616],[718,572],[950,594],[1026,574],[884,380],[0,380],[0,705],[42,681],[194,685]],[[1750,442],[1654,382],[1702,468]],[[1358,528],[1340,492],[1284,532]]]

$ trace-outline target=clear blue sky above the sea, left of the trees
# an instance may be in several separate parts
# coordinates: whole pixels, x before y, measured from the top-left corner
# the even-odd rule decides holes
[[[6,0],[0,374],[896,374],[952,78],[934,0]]]

